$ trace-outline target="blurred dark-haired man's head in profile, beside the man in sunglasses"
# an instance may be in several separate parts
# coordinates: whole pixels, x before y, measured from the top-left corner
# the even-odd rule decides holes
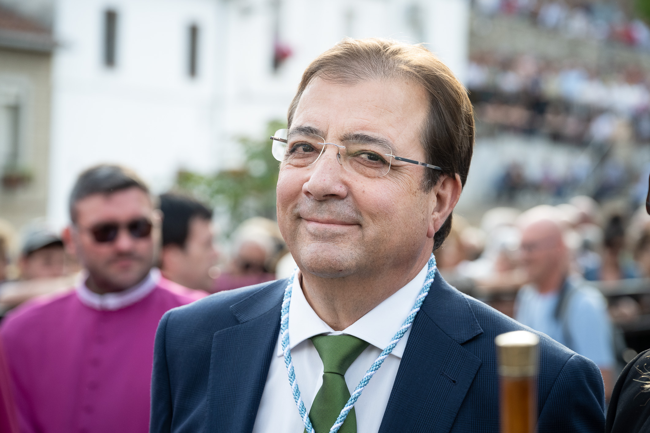
[[[212,210],[203,203],[172,193],[160,197],[162,212],[162,276],[190,289],[212,291],[214,248]]]

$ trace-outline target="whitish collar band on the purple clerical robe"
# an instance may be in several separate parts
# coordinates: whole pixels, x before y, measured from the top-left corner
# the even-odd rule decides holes
[[[77,285],[77,297],[79,301],[85,306],[94,308],[95,310],[120,310],[121,308],[133,305],[141,301],[153,290],[161,278],[161,273],[155,267],[149,271],[149,274],[135,286],[123,291],[116,291],[114,293],[104,293],[100,295],[90,290],[86,286],[88,280],[88,273],[85,272],[81,282]]]

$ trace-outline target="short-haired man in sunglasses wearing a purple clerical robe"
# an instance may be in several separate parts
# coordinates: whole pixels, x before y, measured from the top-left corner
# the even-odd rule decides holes
[[[63,238],[83,278],[73,291],[17,308],[0,328],[21,432],[144,432],[157,324],[202,292],[152,269],[160,217],[135,173],[86,170],[70,219]]]

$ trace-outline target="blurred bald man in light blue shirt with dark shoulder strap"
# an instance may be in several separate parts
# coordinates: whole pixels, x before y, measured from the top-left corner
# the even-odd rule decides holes
[[[552,219],[529,223],[521,259],[530,284],[517,293],[515,319],[595,362],[608,398],[614,353],[607,303],[598,290],[570,275],[571,254],[560,224]]]

